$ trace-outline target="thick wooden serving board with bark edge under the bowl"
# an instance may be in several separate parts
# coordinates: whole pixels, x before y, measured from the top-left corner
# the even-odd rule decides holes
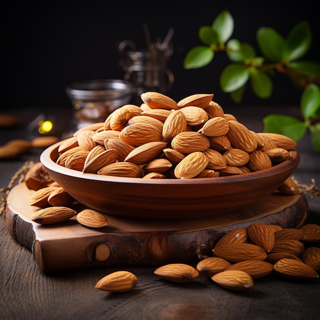
[[[308,215],[303,195],[274,193],[244,209],[190,220],[138,220],[106,215],[109,224],[87,228],[76,218],[40,225],[30,218],[40,208],[28,204],[32,191],[22,183],[9,193],[6,226],[10,235],[35,255],[43,272],[99,266],[193,264],[212,256],[228,231],[254,222],[299,227]],[[85,209],[75,203],[73,209]]]

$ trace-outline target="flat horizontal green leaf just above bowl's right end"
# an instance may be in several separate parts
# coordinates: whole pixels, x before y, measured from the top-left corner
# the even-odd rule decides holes
[[[271,113],[263,118],[264,132],[280,133],[288,136],[295,142],[300,141],[306,134],[304,122],[294,117]]]

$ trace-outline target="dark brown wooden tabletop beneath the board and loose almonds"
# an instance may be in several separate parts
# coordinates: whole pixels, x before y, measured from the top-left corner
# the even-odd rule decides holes
[[[297,114],[296,108],[273,108],[277,113]],[[224,109],[255,131],[262,131],[262,118],[270,113],[267,107]],[[0,129],[0,145],[10,139],[28,138],[30,132],[26,131],[26,124],[37,112],[41,109],[18,110],[16,115],[23,119],[25,126]],[[61,116],[60,119],[67,118]],[[301,163],[294,177],[306,185],[310,185],[313,178],[320,187],[320,153],[312,151],[309,136],[299,142],[296,149],[301,154]],[[27,161],[39,161],[41,152],[41,149],[32,149],[18,159],[0,161],[0,188],[8,186],[12,176]],[[320,198],[312,198],[310,194],[306,197],[309,204],[306,223],[320,224]],[[0,215],[0,253],[0,319],[4,320],[313,320],[320,314],[320,279],[297,281],[271,274],[256,279],[254,286],[246,291],[234,292],[215,285],[204,276],[190,283],[169,283],[154,275],[155,267],[148,266],[43,273],[31,251],[9,235],[4,213]],[[117,270],[128,270],[138,277],[133,290],[108,293],[95,289],[98,280]]]

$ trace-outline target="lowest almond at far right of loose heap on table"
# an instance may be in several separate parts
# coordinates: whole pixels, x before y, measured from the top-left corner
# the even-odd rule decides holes
[[[281,276],[291,279],[311,280],[319,277],[317,272],[307,264],[288,258],[277,261],[273,269]]]

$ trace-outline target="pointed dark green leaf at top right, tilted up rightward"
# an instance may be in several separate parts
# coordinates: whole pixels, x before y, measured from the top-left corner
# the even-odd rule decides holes
[[[294,26],[285,41],[285,60],[298,60],[303,57],[311,47],[312,34],[309,23],[301,21]]]

